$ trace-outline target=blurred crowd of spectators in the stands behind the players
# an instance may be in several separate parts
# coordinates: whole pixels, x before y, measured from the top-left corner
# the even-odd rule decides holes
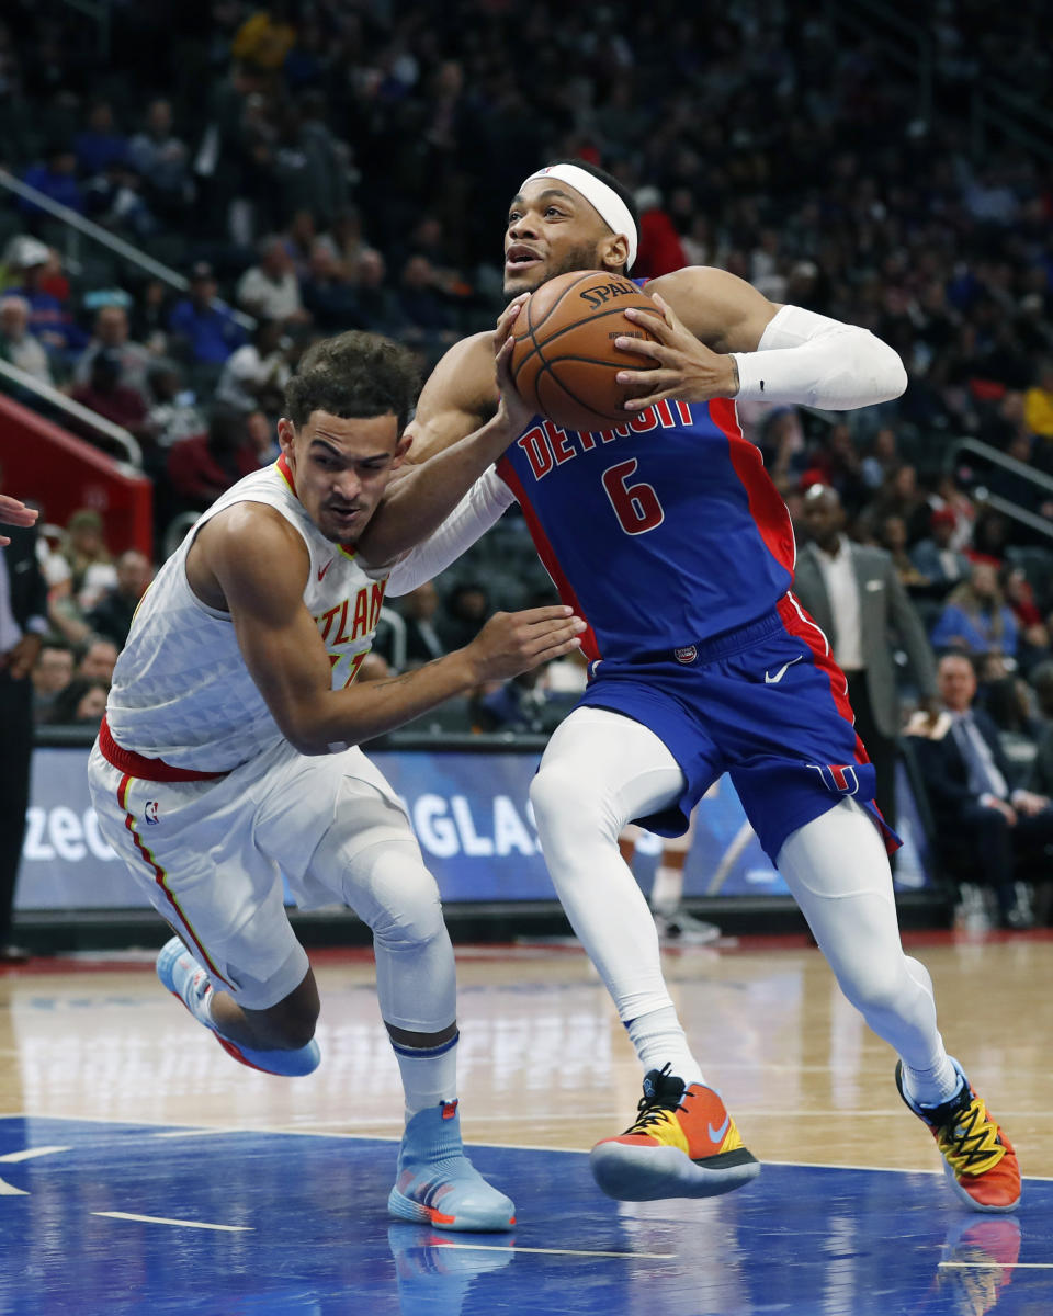
[[[637,196],[634,275],[719,265],[902,354],[895,403],[742,407],[744,430],[802,540],[821,484],[852,540],[890,554],[933,651],[973,665],[1011,750],[1007,790],[1048,795],[1049,772],[1033,774],[1053,759],[1053,137],[978,136],[982,116],[965,112],[1007,68],[1017,103],[1044,108],[1044,7],[894,8],[924,24],[924,87],[879,39],[838,28],[837,7],[803,17],[779,0],[117,4],[105,71],[86,14],[8,0],[0,164],[172,274],[70,243],[30,197],[0,192],[0,359],[136,438],[161,559],[172,525],[274,459],[309,342],[376,330],[426,374],[501,308],[500,234],[523,178],[549,158],[594,161]],[[87,722],[153,565],[115,561],[91,511],[42,542],[38,717]],[[375,670],[550,597],[509,512],[388,612]],[[544,732],[582,683],[563,663],[430,721]],[[919,691],[904,686],[910,715]]]

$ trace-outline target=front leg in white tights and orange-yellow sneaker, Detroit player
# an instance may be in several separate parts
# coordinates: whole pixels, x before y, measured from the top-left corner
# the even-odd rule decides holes
[[[646,1071],[637,1121],[592,1150],[600,1187],[632,1200],[727,1192],[759,1169],[691,1054],[650,909],[619,853],[627,821],[674,805],[683,790],[654,732],[600,708],[561,724],[530,788],[559,900]]]

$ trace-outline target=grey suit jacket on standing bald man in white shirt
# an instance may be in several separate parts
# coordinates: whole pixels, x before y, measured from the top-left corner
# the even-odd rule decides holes
[[[852,566],[860,587],[860,624],[866,658],[866,688],[878,730],[899,734],[899,695],[892,659],[892,636],[907,650],[911,672],[923,695],[936,694],[936,659],[907,591],[900,584],[892,558],[885,549],[849,541]],[[808,609],[831,647],[837,641],[837,619],[819,565],[819,549],[806,544],[798,555],[794,594]]]

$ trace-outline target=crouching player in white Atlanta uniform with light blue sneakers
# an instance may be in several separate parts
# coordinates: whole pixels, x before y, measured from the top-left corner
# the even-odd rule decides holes
[[[361,749],[482,680],[577,646],[567,607],[499,613],[465,649],[353,684],[386,587],[408,592],[459,551],[462,505],[394,566],[355,541],[409,440],[411,355],[342,334],[304,357],[282,454],[222,495],[145,595],[88,766],[103,834],[176,933],[158,975],[236,1059],[309,1074],[319,995],[283,905],[350,905],[374,933],[380,1012],[405,1092],[392,1215],[508,1229],[457,1112],[454,958],[438,891],[395,794]],[[421,536],[523,425],[491,425],[400,482]],[[474,533],[478,533],[475,530]]]

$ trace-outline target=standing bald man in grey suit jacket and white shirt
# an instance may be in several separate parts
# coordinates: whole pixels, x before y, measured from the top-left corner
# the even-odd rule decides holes
[[[825,633],[848,678],[856,730],[878,776],[878,808],[894,828],[900,729],[895,646],[906,651],[921,705],[931,712],[936,708],[936,662],[890,554],[853,544],[844,534],[837,492],[813,484],[804,495],[803,519],[811,542],[798,555],[794,594]]]

